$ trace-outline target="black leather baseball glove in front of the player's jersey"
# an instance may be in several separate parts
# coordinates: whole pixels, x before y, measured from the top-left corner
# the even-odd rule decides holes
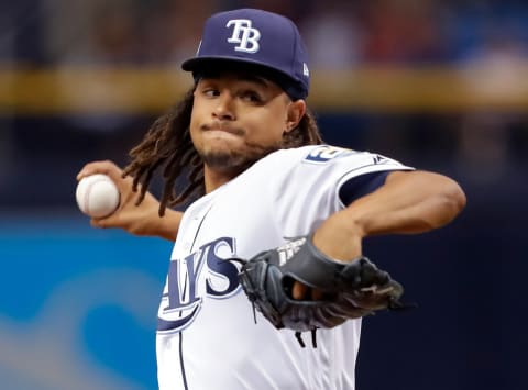
[[[253,304],[276,328],[301,332],[342,324],[384,309],[400,309],[400,283],[366,257],[338,263],[319,252],[311,236],[294,238],[286,245],[262,252],[242,264],[240,282]],[[295,281],[318,290],[321,298],[302,300],[292,296]],[[254,313],[255,314],[255,313]],[[256,321],[256,315],[255,315]]]

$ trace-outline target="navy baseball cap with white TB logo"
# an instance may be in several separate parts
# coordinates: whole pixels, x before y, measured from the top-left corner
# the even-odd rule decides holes
[[[293,99],[310,88],[308,53],[297,26],[276,13],[239,9],[216,13],[205,24],[196,56],[182,68],[200,74],[249,69],[275,81]]]

